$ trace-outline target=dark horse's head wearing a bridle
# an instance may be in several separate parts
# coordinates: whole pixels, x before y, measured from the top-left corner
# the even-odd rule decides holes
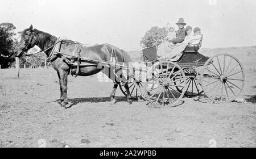
[[[36,39],[38,39],[38,37],[36,36],[36,30],[31,24],[30,28],[22,31],[20,41],[14,49],[14,56],[20,57],[22,56],[22,53],[26,53],[28,49],[34,47],[38,42]]]

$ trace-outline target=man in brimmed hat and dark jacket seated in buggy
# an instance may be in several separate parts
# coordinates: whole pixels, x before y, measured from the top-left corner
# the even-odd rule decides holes
[[[171,42],[173,44],[181,43],[182,41],[184,41],[185,36],[186,36],[185,35],[186,30],[184,28],[186,23],[184,22],[184,19],[180,18],[176,24],[179,27],[179,30],[176,31],[176,37],[172,40],[168,40],[169,42]]]

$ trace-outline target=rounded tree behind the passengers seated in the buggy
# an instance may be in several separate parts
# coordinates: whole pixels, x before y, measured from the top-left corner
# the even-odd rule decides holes
[[[153,45],[159,44],[163,37],[167,36],[166,28],[152,27],[150,30],[146,31],[145,35],[142,37],[141,46],[151,47]]]

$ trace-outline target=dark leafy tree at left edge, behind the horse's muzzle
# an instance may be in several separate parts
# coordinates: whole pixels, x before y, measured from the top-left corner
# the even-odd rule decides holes
[[[8,68],[11,62],[14,61],[13,55],[14,46],[17,41],[14,39],[16,35],[14,30],[16,27],[12,23],[0,24],[0,65],[1,68]]]

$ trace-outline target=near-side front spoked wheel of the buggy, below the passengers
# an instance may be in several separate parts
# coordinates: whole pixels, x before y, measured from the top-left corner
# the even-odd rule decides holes
[[[181,104],[181,98],[186,90],[183,70],[171,61],[160,61],[149,68],[147,81],[143,83],[144,94],[152,106],[157,108]],[[176,87],[182,89],[181,93],[176,90]]]

